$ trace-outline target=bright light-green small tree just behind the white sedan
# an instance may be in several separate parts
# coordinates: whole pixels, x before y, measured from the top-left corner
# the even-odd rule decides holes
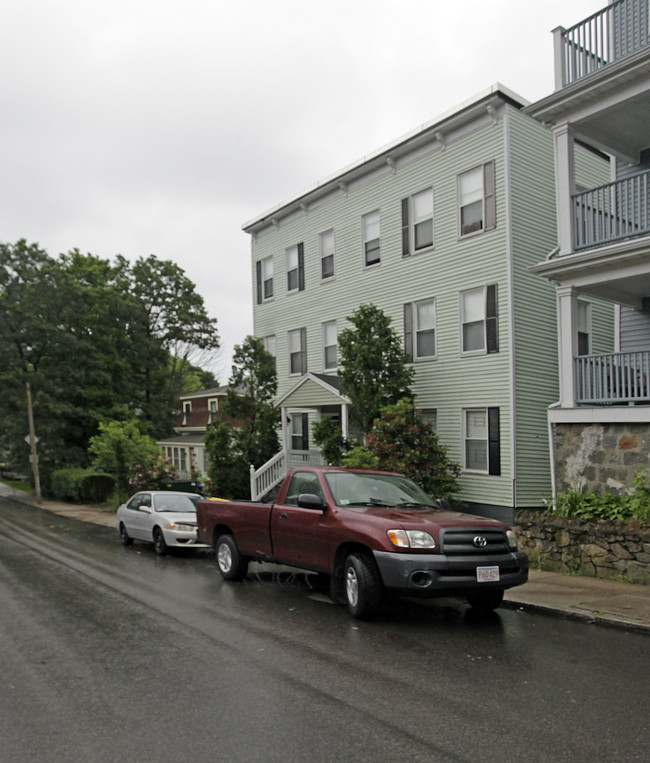
[[[100,423],[99,434],[91,438],[89,450],[94,468],[115,477],[120,501],[132,492],[173,477],[173,469],[163,459],[155,440],[140,431],[135,419]]]

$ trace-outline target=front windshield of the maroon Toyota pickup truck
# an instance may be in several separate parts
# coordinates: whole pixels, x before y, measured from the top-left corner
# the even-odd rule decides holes
[[[399,474],[329,472],[325,479],[337,506],[438,508],[421,488]]]

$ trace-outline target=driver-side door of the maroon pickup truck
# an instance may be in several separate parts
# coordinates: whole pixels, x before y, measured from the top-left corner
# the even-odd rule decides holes
[[[302,493],[321,498],[322,510],[298,506],[298,496]],[[310,570],[328,570],[331,514],[318,475],[295,472],[285,496],[284,503],[276,504],[271,513],[271,539],[276,561]]]

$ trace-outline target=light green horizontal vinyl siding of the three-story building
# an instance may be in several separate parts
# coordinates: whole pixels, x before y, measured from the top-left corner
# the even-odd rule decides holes
[[[288,373],[288,331],[306,328],[308,370],[324,373],[323,321],[336,320],[340,331],[347,325],[346,317],[360,304],[374,303],[391,317],[402,337],[404,304],[434,298],[436,359],[414,363],[417,404],[437,410],[439,439],[456,461],[462,460],[463,410],[497,407],[500,411],[501,475],[464,473],[462,499],[512,506],[516,484],[520,505],[530,505],[533,498],[534,505],[540,505],[541,498],[550,493],[546,407],[557,399],[555,296],[546,281],[531,275],[528,268],[543,260],[557,241],[553,144],[543,127],[506,108],[513,125],[511,182],[506,178],[505,119],[501,111],[497,124],[486,115],[474,129],[449,136],[444,150],[432,142],[428,150],[420,149],[410,161],[401,161],[396,172],[387,166],[350,184],[347,194],[333,193],[307,211],[281,220],[279,227],[261,231],[252,243],[253,277],[255,262],[273,256],[275,296],[255,305],[254,330],[257,336],[276,336],[278,396],[282,396],[297,381]],[[460,238],[457,176],[490,161],[495,164],[496,228]],[[517,195],[511,217],[506,206],[509,186]],[[434,246],[404,258],[401,200],[430,187],[434,194]],[[381,213],[381,264],[364,268],[361,217],[375,209]],[[514,296],[509,280],[510,219]],[[322,282],[319,234],[330,228],[335,236],[335,277]],[[304,245],[305,290],[287,294],[284,252],[300,242]],[[459,294],[488,284],[498,287],[499,352],[463,356]],[[532,300],[540,295],[542,305],[537,308]],[[510,336],[511,303],[514,337]],[[522,349],[522,356],[511,356],[513,348],[517,352]],[[516,416],[511,410],[512,369],[521,377],[515,388]],[[316,404],[315,400],[310,403]],[[527,416],[534,421],[522,423],[521,418]],[[518,447],[527,443],[518,454],[517,473],[512,452],[515,442]],[[524,486],[526,475],[529,488]]]

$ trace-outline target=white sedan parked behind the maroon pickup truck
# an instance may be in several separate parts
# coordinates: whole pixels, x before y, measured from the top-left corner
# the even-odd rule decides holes
[[[116,525],[125,546],[153,543],[157,554],[171,548],[208,548],[197,540],[196,493],[143,490],[117,510]]]

